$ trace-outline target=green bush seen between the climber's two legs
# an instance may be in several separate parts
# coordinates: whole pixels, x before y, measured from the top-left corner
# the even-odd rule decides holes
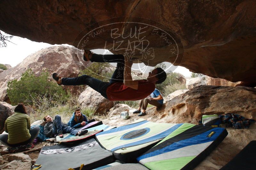
[[[101,81],[109,81],[114,71],[106,71],[110,67],[109,63],[93,62],[89,67],[82,70],[79,76],[86,74]]]

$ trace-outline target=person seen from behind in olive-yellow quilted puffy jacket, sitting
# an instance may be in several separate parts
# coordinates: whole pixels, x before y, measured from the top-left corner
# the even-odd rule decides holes
[[[14,109],[14,114],[5,121],[5,132],[0,135],[0,142],[9,148],[26,145],[26,148],[33,148],[32,144],[40,128],[38,126],[30,130],[30,120],[23,103],[19,103]]]

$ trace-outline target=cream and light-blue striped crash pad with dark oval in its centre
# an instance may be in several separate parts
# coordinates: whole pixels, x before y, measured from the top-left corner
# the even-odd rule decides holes
[[[168,136],[175,125],[139,119],[132,124],[100,132],[96,134],[96,140],[103,148],[113,152],[116,159],[132,162]]]

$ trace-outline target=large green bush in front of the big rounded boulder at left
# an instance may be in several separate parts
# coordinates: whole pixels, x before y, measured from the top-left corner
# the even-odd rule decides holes
[[[7,95],[12,105],[23,102],[26,105],[33,105],[38,96],[46,95],[46,98],[52,98],[52,105],[55,100],[65,102],[70,96],[64,89],[55,82],[48,80],[49,73],[43,71],[41,75],[36,76],[31,69],[21,75],[20,80],[8,82]],[[57,96],[60,98],[58,99]],[[48,106],[50,107],[50,106]]]

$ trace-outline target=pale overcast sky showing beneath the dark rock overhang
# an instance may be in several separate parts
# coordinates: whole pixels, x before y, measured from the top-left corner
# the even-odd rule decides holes
[[[36,51],[41,50],[43,48],[52,46],[51,44],[34,42],[28,39],[24,39],[16,36],[14,36],[11,39],[11,41],[15,44],[7,42],[7,47],[0,48],[0,63],[10,64],[12,67],[19,64],[28,55],[35,53]],[[70,46],[67,44],[63,44],[63,45]],[[55,45],[55,46],[58,46],[58,45]],[[96,49],[92,51],[98,54],[100,53],[103,54],[105,52],[104,49]],[[180,66],[174,67],[172,66],[171,63],[168,63],[168,62],[164,62],[164,63],[167,66],[166,68],[169,68],[167,69],[167,71],[172,70],[173,72],[183,74],[185,77],[190,77],[191,72],[187,68],[180,67]],[[145,66],[143,63],[132,65],[132,69],[138,70],[144,73],[148,73],[149,70],[152,68],[153,67]]]

